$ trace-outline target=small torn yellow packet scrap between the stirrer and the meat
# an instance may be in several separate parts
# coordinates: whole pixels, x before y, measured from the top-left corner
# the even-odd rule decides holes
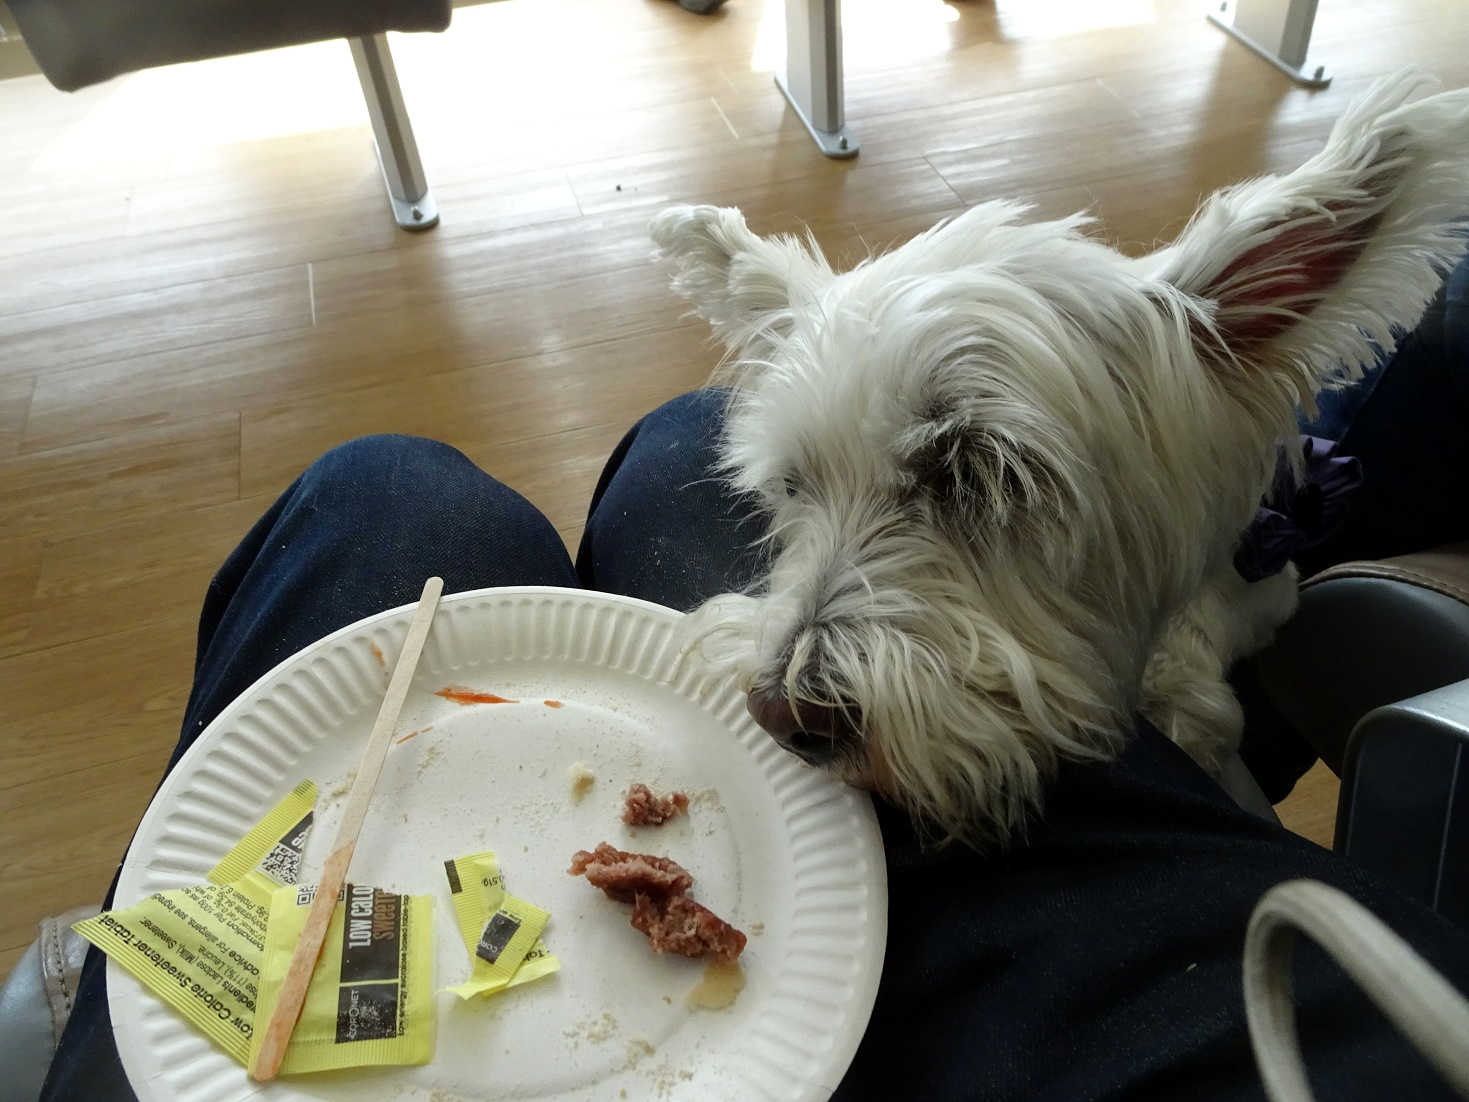
[[[473,970],[448,987],[461,999],[491,995],[539,980],[561,967],[541,933],[551,915],[505,890],[492,852],[470,854],[444,862],[454,901],[454,917]]]

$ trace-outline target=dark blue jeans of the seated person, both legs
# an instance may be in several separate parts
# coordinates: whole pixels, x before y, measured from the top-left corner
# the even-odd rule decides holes
[[[720,395],[701,391],[629,432],[574,564],[545,517],[450,447],[372,436],[328,453],[210,585],[175,760],[276,663],[414,599],[432,573],[450,592],[580,585],[674,608],[743,585],[761,519],[710,478],[720,416]],[[1255,902],[1290,877],[1353,893],[1469,986],[1462,932],[1244,814],[1146,724],[1119,761],[1065,766],[1044,821],[1005,855],[925,849],[886,805],[878,820],[887,964],[840,1099],[1260,1098],[1240,949]],[[1445,1096],[1334,967],[1297,957],[1321,1098]],[[94,951],[43,1098],[131,1096]]]

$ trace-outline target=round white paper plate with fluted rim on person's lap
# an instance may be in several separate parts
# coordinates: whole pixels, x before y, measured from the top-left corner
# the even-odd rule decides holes
[[[144,815],[118,907],[203,882],[303,777],[320,786],[307,876],[320,868],[410,613],[385,611],[308,647],[209,726]],[[867,1026],[883,964],[887,880],[873,808],[780,751],[733,686],[680,669],[679,619],[569,589],[445,598],[401,720],[404,732],[425,730],[388,755],[357,845],[353,880],[435,896],[436,989],[469,973],[442,865],[480,849],[497,851],[516,895],[551,911],[546,945],[560,974],[489,1002],[439,993],[438,1051],[426,1067],[261,1087],[109,965],[113,1030],[138,1096],[830,1095]],[[520,702],[464,707],[433,695],[448,685]],[[573,805],[567,767],[579,760],[598,780]],[[686,820],[635,830],[618,821],[635,780],[712,792]],[[571,852],[602,840],[680,861],[695,876],[695,898],[751,934],[748,986],[733,1006],[690,1009],[685,999],[701,965],[651,954],[627,907],[567,876]]]

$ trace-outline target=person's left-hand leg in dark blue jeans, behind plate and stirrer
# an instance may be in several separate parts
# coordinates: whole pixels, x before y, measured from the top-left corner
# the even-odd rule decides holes
[[[549,522],[454,448],[375,436],[323,455],[210,583],[194,689],[169,768],[279,661],[338,627],[416,601],[435,573],[447,592],[576,585]],[[93,949],[41,1098],[131,1096],[112,1037],[104,961]]]

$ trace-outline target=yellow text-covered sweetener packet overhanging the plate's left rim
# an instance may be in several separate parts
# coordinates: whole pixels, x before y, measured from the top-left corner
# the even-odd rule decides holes
[[[214,883],[157,892],[72,929],[244,1064],[256,1018],[269,893],[261,896],[259,885],[244,890],[216,874],[228,876],[238,865],[257,870],[261,882],[294,880],[314,802],[316,786],[310,780],[298,785],[210,873]],[[294,862],[270,858],[292,845]]]

